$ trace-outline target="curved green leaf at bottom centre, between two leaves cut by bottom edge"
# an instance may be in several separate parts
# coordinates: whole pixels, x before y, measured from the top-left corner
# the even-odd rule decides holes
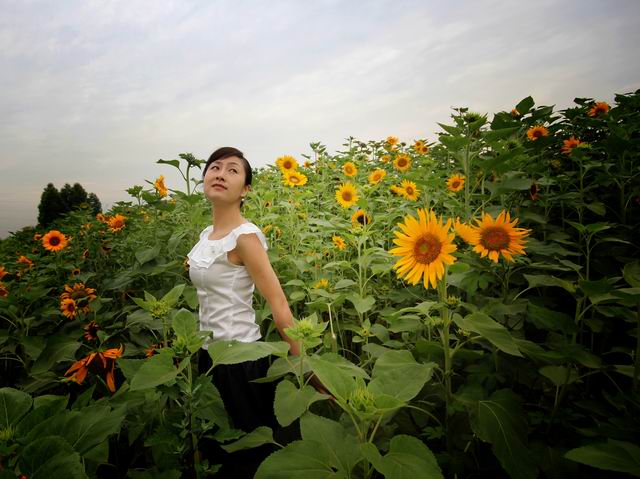
[[[338,422],[329,418],[306,413],[300,419],[300,432],[305,441],[316,441],[323,445],[331,457],[331,465],[347,476],[360,462],[362,454],[357,439],[347,433]],[[323,452],[324,455],[324,452]]]

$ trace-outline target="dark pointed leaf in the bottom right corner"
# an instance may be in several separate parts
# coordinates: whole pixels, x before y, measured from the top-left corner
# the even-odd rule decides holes
[[[630,442],[608,439],[606,443],[571,449],[564,457],[598,469],[640,477],[640,447]]]

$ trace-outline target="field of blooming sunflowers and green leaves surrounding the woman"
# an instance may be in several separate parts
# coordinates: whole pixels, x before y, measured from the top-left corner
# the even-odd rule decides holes
[[[2,240],[0,479],[215,477],[207,451],[265,445],[258,479],[640,477],[640,91],[439,126],[255,172],[303,353],[259,295],[265,341],[208,352],[271,358],[281,428],[234,429],[198,372],[201,159]]]

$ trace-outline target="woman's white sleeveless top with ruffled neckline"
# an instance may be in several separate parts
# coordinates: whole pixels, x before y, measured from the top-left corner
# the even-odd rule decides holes
[[[253,223],[243,223],[217,240],[208,238],[212,231],[213,226],[207,226],[187,255],[189,277],[198,291],[200,330],[213,331],[214,341],[257,341],[261,334],[253,310],[253,279],[244,266],[231,263],[227,253],[242,234],[256,234],[265,250],[267,240]]]

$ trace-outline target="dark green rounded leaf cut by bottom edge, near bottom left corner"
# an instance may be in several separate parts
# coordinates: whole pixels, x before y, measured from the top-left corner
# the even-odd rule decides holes
[[[38,438],[20,454],[20,471],[29,479],[87,479],[80,455],[60,436]]]

